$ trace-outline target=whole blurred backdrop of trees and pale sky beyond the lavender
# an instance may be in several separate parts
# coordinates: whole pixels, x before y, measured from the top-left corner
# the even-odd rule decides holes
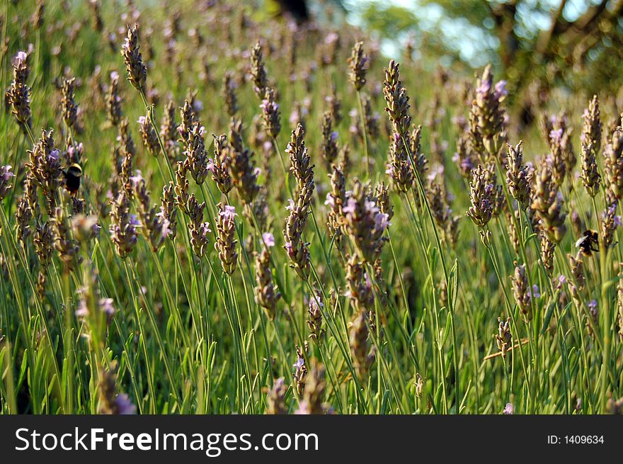
[[[623,0],[348,2],[386,38],[416,35],[423,57],[492,62],[530,122],[535,89],[615,92],[623,84]],[[466,56],[466,50],[469,54]],[[546,92],[547,93],[547,92]]]

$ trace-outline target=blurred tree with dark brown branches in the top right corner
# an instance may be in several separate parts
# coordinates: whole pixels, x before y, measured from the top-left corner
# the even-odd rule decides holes
[[[572,90],[617,91],[622,84],[623,0],[422,0],[498,39],[497,55],[520,118],[530,123],[530,91],[564,84]],[[607,70],[607,72],[605,72]],[[536,84],[536,85],[535,85]]]

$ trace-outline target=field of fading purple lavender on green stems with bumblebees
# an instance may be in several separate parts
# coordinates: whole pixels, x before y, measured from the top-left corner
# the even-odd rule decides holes
[[[1,413],[620,414],[619,96],[259,14],[0,6]]]

